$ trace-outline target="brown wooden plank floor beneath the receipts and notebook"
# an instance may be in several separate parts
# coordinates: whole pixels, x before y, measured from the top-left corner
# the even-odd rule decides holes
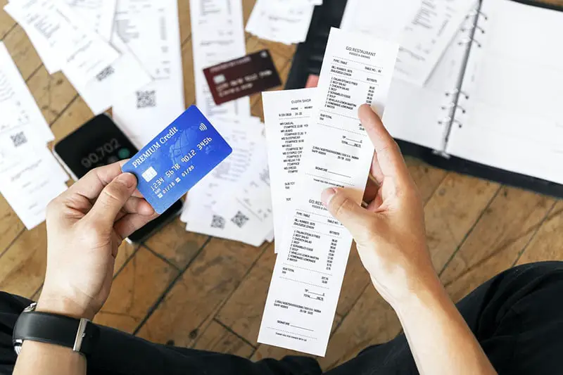
[[[7,0],[0,0],[4,6]],[[254,0],[243,0],[248,20]],[[186,105],[194,103],[189,1],[180,0]],[[92,116],[61,73],[49,76],[23,30],[0,11],[6,44],[57,139]],[[248,52],[268,48],[286,77],[293,47],[247,35]],[[252,112],[262,115],[260,96]],[[503,269],[563,259],[563,201],[494,182],[444,172],[408,159],[426,209],[434,265],[454,300]],[[274,248],[187,233],[175,220],[140,246],[124,244],[110,298],[96,322],[157,343],[229,352],[259,360],[286,350],[256,342]],[[37,298],[46,261],[42,224],[26,231],[0,197],[0,290]],[[357,253],[350,253],[334,333],[324,368],[380,343],[400,330],[396,315],[369,284]]]

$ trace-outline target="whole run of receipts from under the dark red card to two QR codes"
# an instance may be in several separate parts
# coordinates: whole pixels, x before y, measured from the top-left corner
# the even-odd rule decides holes
[[[196,104],[233,153],[192,188],[180,219],[186,230],[260,246],[273,240],[264,125],[248,97],[217,106],[203,69],[246,54],[240,0],[190,0]]]

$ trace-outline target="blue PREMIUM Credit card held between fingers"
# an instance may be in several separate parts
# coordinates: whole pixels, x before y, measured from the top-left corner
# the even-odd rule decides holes
[[[191,106],[122,167],[139,181],[137,189],[163,213],[217,167],[232,148]]]

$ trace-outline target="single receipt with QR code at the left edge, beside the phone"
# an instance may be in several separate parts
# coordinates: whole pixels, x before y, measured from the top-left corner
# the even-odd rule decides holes
[[[0,42],[0,158],[55,139],[18,68]],[[25,151],[20,151],[25,148]]]

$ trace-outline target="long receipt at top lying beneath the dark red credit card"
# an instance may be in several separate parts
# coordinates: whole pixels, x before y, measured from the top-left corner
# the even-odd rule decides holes
[[[190,0],[190,16],[198,108],[208,117],[250,116],[248,97],[217,106],[203,75],[205,68],[246,54],[241,0]]]

